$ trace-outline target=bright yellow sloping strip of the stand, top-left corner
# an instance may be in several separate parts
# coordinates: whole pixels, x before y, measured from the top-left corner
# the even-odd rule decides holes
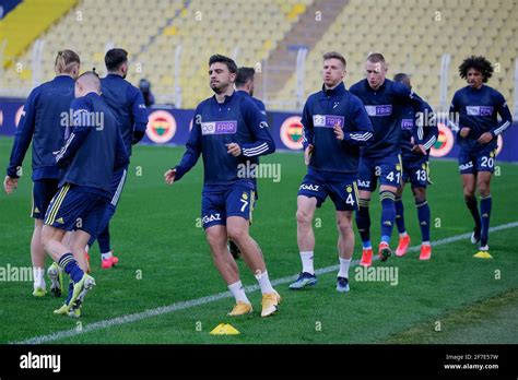
[[[79,0],[25,0],[0,21],[2,67],[13,64],[31,44]],[[3,45],[5,44],[5,45]]]

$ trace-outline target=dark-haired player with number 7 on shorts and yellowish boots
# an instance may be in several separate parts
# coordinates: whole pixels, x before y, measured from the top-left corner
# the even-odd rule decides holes
[[[231,58],[209,59],[210,86],[214,96],[195,111],[187,150],[179,165],[167,170],[165,181],[178,181],[203,156],[204,180],[201,215],[214,264],[228,285],[236,305],[228,316],[252,311],[239,280],[236,261],[228,252],[227,238],[236,242],[256,275],[262,292],[261,317],[278,310],[281,297],[273,289],[259,247],[249,236],[249,222],[256,201],[254,176],[238,176],[239,167],[257,163],[273,153],[275,145],[268,123],[248,95],[234,91],[237,66]]]

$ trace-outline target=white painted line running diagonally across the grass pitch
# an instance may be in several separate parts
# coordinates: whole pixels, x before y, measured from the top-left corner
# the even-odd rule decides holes
[[[515,228],[515,227],[518,227],[518,222],[507,223],[507,224],[503,224],[503,225],[499,225],[499,226],[496,226],[496,227],[492,227],[492,228],[490,228],[490,231],[495,233],[495,231],[498,231],[498,230],[504,230],[504,229],[509,229],[509,228]],[[456,236],[451,236],[449,238],[432,241],[432,246],[433,247],[443,246],[443,245],[447,245],[447,244],[450,244],[450,242],[454,242],[454,241],[468,239],[469,237],[471,237],[471,233],[456,235]],[[409,248],[409,251],[410,252],[419,251],[420,248],[421,248],[420,246],[414,246],[414,247]],[[374,260],[377,260],[377,257],[374,258]],[[354,260],[351,263],[351,266],[355,266],[358,263],[360,263],[358,260]],[[326,266],[326,268],[321,268],[321,269],[315,271],[315,273],[316,274],[325,274],[325,273],[329,273],[329,272],[334,272],[339,268],[340,268],[340,265]],[[295,275],[278,278],[278,280],[272,281],[272,285],[287,284],[287,283],[296,280],[296,277],[297,277],[297,275],[295,274]],[[252,293],[252,292],[259,290],[259,285],[247,286],[245,289],[248,293]],[[127,316],[122,316],[122,317],[107,319],[107,320],[99,321],[99,322],[90,323],[90,324],[86,324],[85,326],[83,326],[81,330],[71,329],[71,330],[58,331],[58,332],[50,333],[50,334],[47,334],[47,335],[39,335],[39,336],[31,337],[31,339],[27,339],[25,341],[11,342],[11,344],[42,344],[42,343],[54,342],[54,341],[58,341],[58,340],[61,340],[61,339],[84,334],[84,333],[87,333],[87,332],[91,332],[91,331],[103,330],[103,329],[111,328],[114,325],[120,325],[120,324],[125,324],[125,323],[137,322],[137,321],[141,321],[143,319],[148,319],[148,318],[151,318],[151,317],[163,316],[163,314],[167,314],[169,312],[185,310],[185,309],[192,308],[195,306],[205,305],[205,304],[217,301],[220,299],[225,299],[225,298],[231,298],[231,297],[232,297],[232,295],[231,295],[229,292],[219,293],[219,294],[215,294],[215,295],[212,295],[212,296],[191,299],[191,300],[188,300],[188,301],[180,301],[180,302],[176,302],[176,304],[173,304],[173,305],[169,305],[169,306],[163,306],[163,307],[158,307],[158,308],[155,308],[155,309],[149,309],[149,310],[145,310],[145,311],[142,311],[142,312],[133,313],[133,314],[127,314]]]

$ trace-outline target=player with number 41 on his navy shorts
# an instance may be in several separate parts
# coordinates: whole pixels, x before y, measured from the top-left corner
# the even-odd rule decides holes
[[[401,149],[399,119],[404,106],[425,114],[424,102],[403,84],[386,79],[387,63],[379,52],[367,57],[367,78],[353,84],[350,92],[365,105],[374,128],[372,145],[362,147],[358,170],[358,212],[356,225],[362,237],[363,253],[361,264],[369,266],[373,261],[370,244],[370,215],[368,206],[379,177],[379,199],[381,201],[381,241],[378,257],[386,261],[391,254],[390,236],[396,219],[396,193],[401,185]]]

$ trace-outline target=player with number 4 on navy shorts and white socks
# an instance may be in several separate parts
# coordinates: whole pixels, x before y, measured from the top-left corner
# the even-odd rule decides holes
[[[349,292],[349,266],[354,249],[351,224],[357,209],[356,178],[360,146],[373,140],[373,126],[362,102],[345,90],[345,58],[335,51],[323,55],[322,90],[304,106],[304,157],[307,175],[297,195],[297,244],[303,263],[298,278],[290,285],[301,289],[317,284],[314,269],[313,216],[328,195],[337,210],[340,271],[337,290]]]

